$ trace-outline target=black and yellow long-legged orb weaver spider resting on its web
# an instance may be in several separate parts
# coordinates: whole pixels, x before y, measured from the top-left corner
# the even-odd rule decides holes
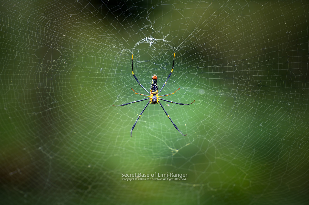
[[[146,90],[146,89],[142,86],[142,84],[138,81],[137,77],[136,77],[136,76],[134,75],[134,73],[133,73],[133,54],[132,54],[132,74],[133,74],[135,80],[138,82],[138,84],[139,84],[140,86],[142,86],[142,88],[143,88],[144,90],[146,90],[146,92],[149,93],[150,95],[144,95],[144,94],[136,93],[132,88],[131,88],[131,89],[133,90],[133,92],[134,92],[135,94],[144,95],[144,96],[147,96],[147,97],[149,97],[149,98],[142,99],[142,100],[138,100],[138,101],[133,101],[133,102],[129,102],[129,103],[125,103],[125,104],[122,104],[122,105],[112,105],[112,106],[115,106],[115,107],[119,107],[119,106],[129,105],[129,104],[134,103],[134,102],[141,102],[141,101],[150,99],[150,100],[148,101],[147,105],[144,107],[144,109],[143,109],[143,111],[141,112],[141,114],[138,116],[137,120],[135,121],[135,123],[134,123],[134,125],[133,125],[133,127],[132,127],[132,129],[131,129],[131,137],[132,137],[132,131],[133,131],[133,129],[134,129],[134,127],[135,127],[135,125],[136,125],[138,119],[142,116],[143,112],[145,111],[146,107],[149,105],[150,102],[151,102],[151,104],[154,104],[154,105],[159,103],[160,106],[162,107],[162,109],[164,110],[166,116],[167,116],[170,120],[171,120],[170,116],[167,114],[167,112],[165,111],[165,109],[163,108],[163,106],[162,106],[162,104],[161,104],[161,102],[160,102],[159,100],[163,100],[163,101],[166,101],[166,102],[175,103],[175,104],[178,104],[178,105],[190,105],[190,104],[192,104],[193,102],[195,102],[195,100],[194,100],[194,101],[191,102],[190,104],[184,104],[184,103],[172,102],[172,101],[164,100],[164,99],[160,98],[160,97],[163,97],[163,96],[167,96],[167,95],[174,94],[177,90],[180,89],[180,88],[178,88],[175,92],[173,92],[173,93],[171,93],[171,94],[159,95],[159,93],[162,91],[163,87],[165,86],[165,84],[166,84],[168,78],[170,78],[171,74],[173,73],[174,63],[175,63],[175,53],[174,53],[174,60],[173,60],[173,65],[172,65],[171,73],[168,75],[168,77],[167,77],[165,83],[163,84],[161,90],[158,92],[158,84],[157,84],[158,77],[157,77],[157,75],[153,75],[153,76],[152,76],[152,80],[151,80],[150,92],[148,92],[148,90]],[[174,127],[178,130],[178,132],[180,132],[180,130],[177,128],[176,124],[175,124],[172,120],[171,120],[171,122],[173,123]],[[182,134],[182,133],[180,132],[180,134]],[[186,134],[185,134],[185,135],[182,134],[182,135],[183,135],[183,136],[186,136]]]

